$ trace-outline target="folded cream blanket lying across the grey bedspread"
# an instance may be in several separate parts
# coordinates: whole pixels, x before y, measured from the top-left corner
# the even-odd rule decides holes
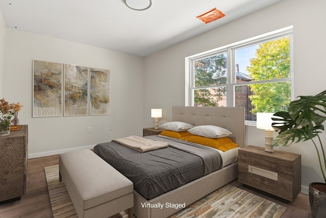
[[[155,141],[135,135],[114,139],[112,141],[139,152],[148,152],[156,149],[167,148],[169,146],[167,142]]]

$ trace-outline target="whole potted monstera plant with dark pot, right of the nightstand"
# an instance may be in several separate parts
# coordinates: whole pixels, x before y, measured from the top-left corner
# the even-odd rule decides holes
[[[326,156],[319,133],[322,133],[326,120],[326,90],[314,96],[299,96],[289,104],[288,112],[279,111],[272,118],[273,127],[279,135],[273,140],[273,146],[289,146],[292,143],[311,140],[317,152],[319,166],[324,183],[313,182],[309,185],[309,199],[312,215],[326,212],[318,210],[318,205],[326,204]],[[318,191],[315,191],[318,190]],[[324,195],[322,195],[324,194]],[[325,216],[323,216],[325,215]],[[320,217],[326,217],[322,214]]]

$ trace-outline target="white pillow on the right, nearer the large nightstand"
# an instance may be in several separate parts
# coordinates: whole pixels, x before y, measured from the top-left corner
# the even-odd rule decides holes
[[[232,134],[227,129],[218,126],[206,125],[197,126],[188,130],[189,133],[199,136],[204,136],[207,138],[223,138]]]

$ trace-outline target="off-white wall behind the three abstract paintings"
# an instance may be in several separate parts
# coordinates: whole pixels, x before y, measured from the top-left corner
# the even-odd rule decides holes
[[[33,118],[33,59],[110,70],[111,114]],[[18,118],[29,125],[30,158],[142,135],[142,57],[7,28],[4,65],[3,98],[24,105]]]

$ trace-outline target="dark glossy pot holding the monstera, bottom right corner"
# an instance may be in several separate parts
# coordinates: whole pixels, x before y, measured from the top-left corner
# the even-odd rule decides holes
[[[309,184],[309,202],[312,216],[326,217],[326,184],[313,182]]]

